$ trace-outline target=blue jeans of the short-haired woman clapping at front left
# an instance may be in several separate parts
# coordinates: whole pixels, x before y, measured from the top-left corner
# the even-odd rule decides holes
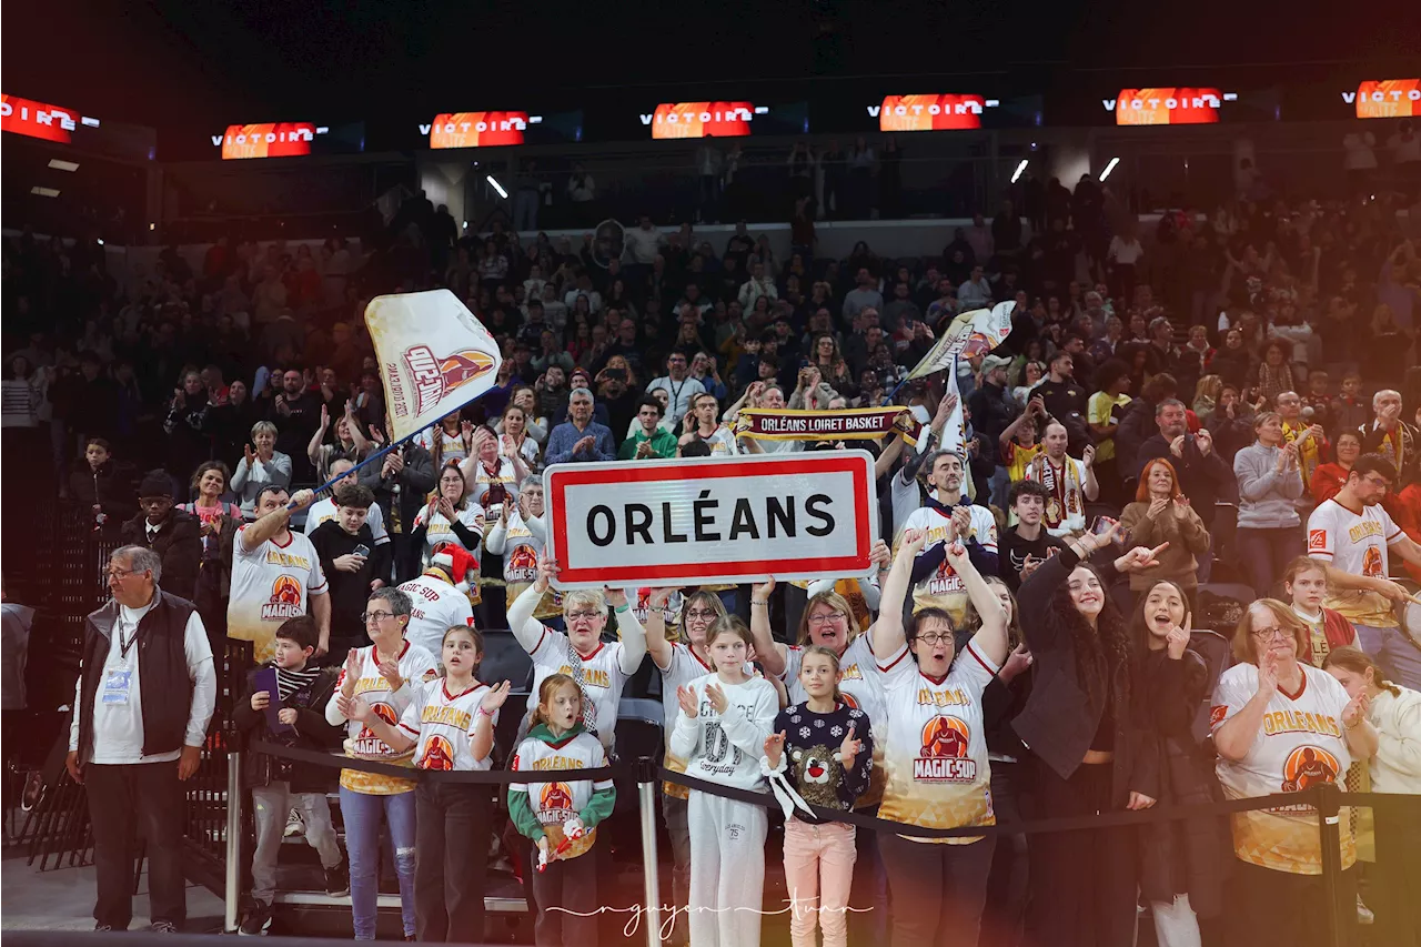
[[[405,936],[415,934],[415,793],[372,796],[341,786],[341,818],[345,820],[345,849],[351,865],[351,913],[355,940],[375,940],[379,904],[379,816],[389,823],[395,846],[395,874],[399,877],[399,914]]]

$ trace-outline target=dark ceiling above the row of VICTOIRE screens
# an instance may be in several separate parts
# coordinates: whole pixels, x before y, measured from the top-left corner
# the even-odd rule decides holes
[[[1340,63],[1421,71],[1421,7],[959,0],[31,0],[0,90],[159,128],[865,75]],[[1327,10],[1312,14],[1309,10]],[[810,85],[814,82],[816,85]],[[728,90],[729,91],[729,90]],[[497,105],[495,105],[497,107]]]

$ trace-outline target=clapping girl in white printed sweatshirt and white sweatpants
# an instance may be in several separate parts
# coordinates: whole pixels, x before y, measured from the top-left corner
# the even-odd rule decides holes
[[[671,752],[686,775],[737,789],[762,789],[760,755],[780,710],[769,681],[745,670],[750,631],[720,619],[706,633],[713,674],[676,688],[681,718]],[[691,943],[759,947],[764,896],[764,809],[691,791]]]

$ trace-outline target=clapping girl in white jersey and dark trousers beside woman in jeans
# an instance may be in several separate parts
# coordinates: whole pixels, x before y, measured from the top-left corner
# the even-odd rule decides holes
[[[483,636],[456,624],[441,651],[448,677],[421,684],[399,718],[382,719],[358,697],[338,697],[340,711],[395,751],[415,749],[416,769],[489,769],[493,728],[509,697],[475,678]],[[421,779],[415,789],[415,930],[419,940],[482,940],[483,880],[489,862],[492,801],[486,786]]]

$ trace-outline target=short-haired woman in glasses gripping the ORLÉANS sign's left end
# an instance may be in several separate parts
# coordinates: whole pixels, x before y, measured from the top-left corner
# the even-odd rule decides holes
[[[539,692],[550,674],[571,677],[583,691],[583,727],[611,751],[617,729],[617,705],[627,678],[637,673],[641,658],[647,654],[647,633],[637,620],[631,603],[627,601],[627,593],[612,587],[607,587],[605,592],[595,589],[566,592],[563,621],[567,631],[547,627],[533,617],[533,611],[557,573],[557,562],[546,556],[539,559],[537,582],[509,606],[509,628],[533,658],[533,692]],[[617,610],[620,641],[603,641],[608,606]],[[529,715],[533,710],[529,708]],[[522,727],[522,732],[526,731],[527,719]],[[522,732],[519,741],[523,739]]]

